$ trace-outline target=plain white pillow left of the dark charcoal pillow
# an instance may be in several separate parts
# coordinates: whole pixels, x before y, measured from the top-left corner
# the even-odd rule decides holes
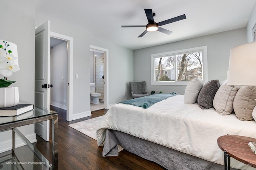
[[[197,102],[197,96],[204,86],[204,82],[201,78],[194,78],[188,83],[184,94],[184,104],[194,104]]]

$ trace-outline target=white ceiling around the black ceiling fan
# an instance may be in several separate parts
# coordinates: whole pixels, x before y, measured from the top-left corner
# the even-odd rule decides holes
[[[256,0],[36,0],[36,14],[80,25],[93,35],[129,49],[141,49],[202,35],[246,27]],[[163,25],[173,31],[138,36],[146,25],[144,9],[160,22],[186,14],[185,20]]]

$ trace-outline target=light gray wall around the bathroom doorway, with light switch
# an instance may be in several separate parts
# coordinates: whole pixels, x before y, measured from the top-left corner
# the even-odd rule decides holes
[[[129,98],[128,84],[134,79],[133,51],[104,41],[86,31],[86,28],[62,23],[52,18],[36,15],[38,27],[46,20],[51,21],[51,31],[74,38],[73,118],[90,112],[90,45],[109,51],[109,104]]]

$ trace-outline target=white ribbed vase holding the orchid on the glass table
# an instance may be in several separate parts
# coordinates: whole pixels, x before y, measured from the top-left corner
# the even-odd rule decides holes
[[[0,88],[0,108],[16,106],[19,103],[18,87]]]

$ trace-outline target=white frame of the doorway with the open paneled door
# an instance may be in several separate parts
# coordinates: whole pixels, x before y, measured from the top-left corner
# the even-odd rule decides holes
[[[68,88],[66,120],[73,120],[73,38],[50,31],[50,37],[67,41],[68,49]]]

